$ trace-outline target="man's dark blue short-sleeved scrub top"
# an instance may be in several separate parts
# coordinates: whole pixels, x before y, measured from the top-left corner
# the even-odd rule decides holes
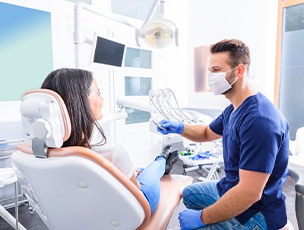
[[[261,93],[248,97],[234,111],[229,105],[211,124],[223,137],[226,176],[217,184],[222,196],[239,182],[239,169],[270,174],[262,198],[236,218],[246,223],[261,212],[268,229],[287,223],[282,186],[288,175],[289,126],[278,109]]]

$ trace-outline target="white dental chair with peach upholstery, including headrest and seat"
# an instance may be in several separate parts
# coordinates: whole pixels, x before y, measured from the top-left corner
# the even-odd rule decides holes
[[[166,229],[191,177],[164,176],[151,215],[143,193],[110,161],[88,148],[61,147],[71,124],[57,93],[29,91],[20,111],[29,142],[18,145],[12,165],[30,205],[49,229]]]

